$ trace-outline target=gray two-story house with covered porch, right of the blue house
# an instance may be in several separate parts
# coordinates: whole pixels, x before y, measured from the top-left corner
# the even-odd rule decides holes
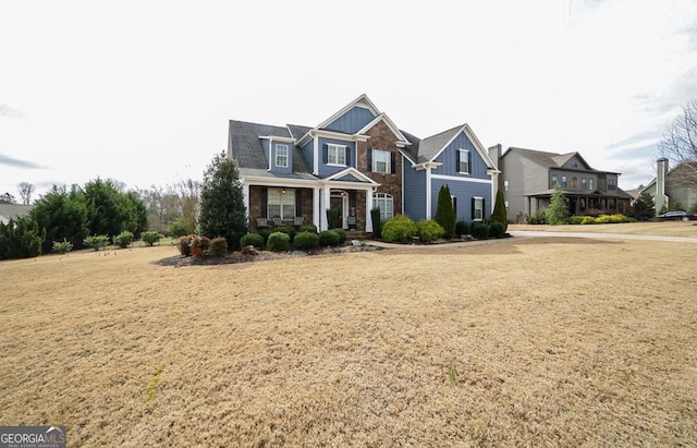
[[[549,206],[554,185],[564,193],[572,215],[626,213],[632,196],[617,186],[620,173],[591,168],[578,153],[554,154],[501,145],[489,153],[503,173],[503,190],[510,221],[521,221]]]

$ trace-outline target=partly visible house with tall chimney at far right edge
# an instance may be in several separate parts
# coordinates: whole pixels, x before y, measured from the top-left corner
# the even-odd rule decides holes
[[[677,204],[683,210],[690,210],[697,206],[697,164],[682,162],[669,170],[667,158],[656,161],[656,178],[641,190],[653,197],[656,213],[663,206],[668,209],[671,204]]]

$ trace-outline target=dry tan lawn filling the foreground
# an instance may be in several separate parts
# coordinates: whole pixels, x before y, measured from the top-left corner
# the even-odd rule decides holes
[[[697,443],[697,244],[151,263],[174,251],[0,263],[0,422],[70,446]]]

